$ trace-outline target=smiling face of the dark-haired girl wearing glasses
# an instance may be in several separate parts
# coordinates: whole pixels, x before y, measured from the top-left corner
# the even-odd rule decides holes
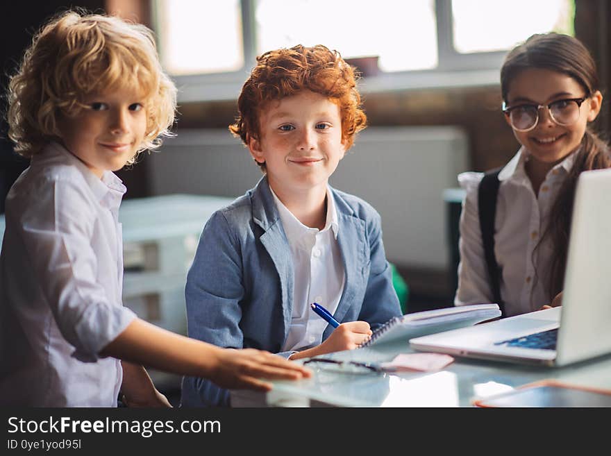
[[[549,69],[526,69],[509,84],[509,106],[521,104],[548,105],[562,99],[586,96],[585,89],[571,76]],[[539,109],[539,121],[533,130],[513,130],[518,142],[530,153],[530,157],[546,164],[556,164],[575,151],[589,121],[596,119],[601,110],[603,96],[596,91],[580,106],[579,118],[572,125],[555,123],[547,109]],[[510,124],[508,117],[505,119]],[[510,124],[511,125],[511,124]]]

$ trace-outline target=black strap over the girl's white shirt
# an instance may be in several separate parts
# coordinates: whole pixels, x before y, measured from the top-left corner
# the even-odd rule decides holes
[[[484,255],[488,269],[488,280],[492,288],[494,301],[501,308],[501,316],[505,316],[505,305],[501,300],[501,269],[494,256],[494,220],[496,219],[496,196],[499,194],[499,172],[501,169],[488,171],[478,187],[478,210],[480,229],[484,245]]]

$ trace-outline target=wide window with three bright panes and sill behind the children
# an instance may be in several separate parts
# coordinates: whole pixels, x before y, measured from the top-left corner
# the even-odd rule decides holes
[[[496,84],[533,33],[574,34],[574,0],[156,0],[160,54],[181,101],[234,99],[255,57],[325,44],[364,92]],[[373,65],[371,65],[373,64]]]

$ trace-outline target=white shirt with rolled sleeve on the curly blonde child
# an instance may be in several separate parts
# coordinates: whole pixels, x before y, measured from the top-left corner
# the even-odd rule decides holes
[[[0,403],[114,407],[122,367],[98,353],[135,314],[122,305],[117,221],[126,188],[56,143],[6,198],[0,253]]]

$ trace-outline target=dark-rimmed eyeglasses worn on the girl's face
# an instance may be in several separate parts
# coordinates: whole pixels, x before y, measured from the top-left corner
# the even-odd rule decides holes
[[[589,95],[581,98],[566,98],[556,100],[549,105],[516,105],[508,106],[503,101],[503,112],[511,121],[514,130],[526,132],[537,126],[539,122],[539,109],[547,108],[549,117],[558,125],[569,126],[579,119],[581,103],[589,98]]]

